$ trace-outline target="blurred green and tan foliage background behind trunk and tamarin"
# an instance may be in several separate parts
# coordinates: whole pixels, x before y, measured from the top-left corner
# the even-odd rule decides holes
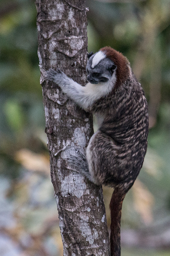
[[[87,0],[88,50],[130,61],[150,116],[144,166],[123,205],[122,256],[170,255],[170,0]],[[0,1],[0,255],[61,256],[39,83],[36,6]],[[96,129],[96,124],[94,124]],[[112,190],[104,188],[109,208]]]

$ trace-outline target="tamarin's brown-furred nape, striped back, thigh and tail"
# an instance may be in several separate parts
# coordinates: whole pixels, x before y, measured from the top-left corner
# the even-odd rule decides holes
[[[147,150],[148,107],[144,91],[122,53],[101,49],[117,66],[116,85],[91,106],[104,120],[88,145],[93,176],[114,187],[110,202],[111,256],[121,255],[120,225],[123,199],[142,168]]]

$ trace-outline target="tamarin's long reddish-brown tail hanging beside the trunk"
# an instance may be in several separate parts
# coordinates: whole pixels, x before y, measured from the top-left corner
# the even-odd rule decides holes
[[[115,188],[110,201],[110,256],[121,256],[121,214],[125,192]]]

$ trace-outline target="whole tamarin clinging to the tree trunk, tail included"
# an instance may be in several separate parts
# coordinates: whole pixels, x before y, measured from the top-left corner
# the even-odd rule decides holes
[[[86,70],[85,86],[59,69],[49,69],[46,79],[57,83],[76,104],[97,117],[99,129],[91,137],[86,155],[79,152],[70,163],[91,182],[114,188],[110,254],[120,256],[122,202],[142,168],[147,150],[147,101],[129,61],[111,47],[91,52]]]

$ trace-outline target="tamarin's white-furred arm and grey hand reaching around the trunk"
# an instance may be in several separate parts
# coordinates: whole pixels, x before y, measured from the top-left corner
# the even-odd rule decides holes
[[[54,71],[49,69],[46,71],[46,79],[57,83],[60,86],[63,93],[66,93],[74,102],[76,102],[83,109],[87,109],[89,105],[88,95],[85,93],[85,87],[74,82],[60,69]]]

